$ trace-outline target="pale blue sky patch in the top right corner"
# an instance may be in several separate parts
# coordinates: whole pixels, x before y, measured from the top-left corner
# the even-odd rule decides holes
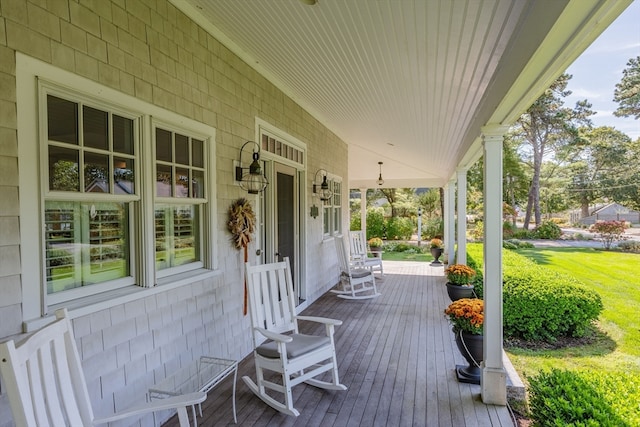
[[[618,107],[613,91],[627,62],[636,56],[640,56],[640,0],[634,0],[567,69],[573,75],[568,84],[573,93],[565,106],[586,99],[597,112],[591,117],[594,126],[611,126],[634,140],[640,138],[640,120],[613,115]]]

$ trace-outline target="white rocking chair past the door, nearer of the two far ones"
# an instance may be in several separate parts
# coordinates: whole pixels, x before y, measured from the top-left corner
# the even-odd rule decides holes
[[[342,236],[336,236],[334,242],[340,263],[340,288],[332,289],[331,292],[345,299],[369,299],[380,296],[373,271],[349,262],[349,254]]]

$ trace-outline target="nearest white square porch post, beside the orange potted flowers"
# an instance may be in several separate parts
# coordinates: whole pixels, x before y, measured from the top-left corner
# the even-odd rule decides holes
[[[484,146],[484,362],[482,401],[507,404],[502,363],[502,141],[507,128],[482,128]]]

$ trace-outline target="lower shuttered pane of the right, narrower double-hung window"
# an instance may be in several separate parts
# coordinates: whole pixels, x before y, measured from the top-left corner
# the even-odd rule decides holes
[[[200,260],[199,221],[197,206],[156,206],[156,268],[158,270]]]

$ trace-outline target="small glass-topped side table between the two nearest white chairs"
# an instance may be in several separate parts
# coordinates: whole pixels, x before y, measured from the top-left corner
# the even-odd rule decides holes
[[[237,424],[236,380],[238,378],[238,362],[236,360],[202,356],[151,387],[149,389],[149,398],[161,399],[197,391],[208,393],[232,373],[233,421]],[[202,405],[198,404],[198,407],[202,417]],[[191,410],[193,413],[193,426],[197,427],[195,405],[191,407]]]

